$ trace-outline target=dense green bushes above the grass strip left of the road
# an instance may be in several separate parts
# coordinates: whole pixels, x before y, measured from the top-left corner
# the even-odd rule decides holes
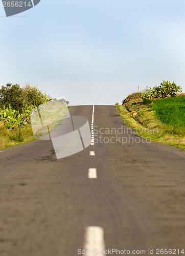
[[[16,130],[27,123],[30,123],[30,114],[34,108],[41,105],[45,108],[47,101],[50,101],[46,94],[43,94],[37,87],[26,84],[20,88],[19,84],[7,83],[0,89],[0,122],[9,130]],[[65,99],[56,101],[67,105]],[[16,135],[17,136],[17,135]],[[19,136],[20,137],[20,136]]]

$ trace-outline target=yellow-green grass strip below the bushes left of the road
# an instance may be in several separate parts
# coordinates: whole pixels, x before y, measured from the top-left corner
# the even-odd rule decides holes
[[[26,143],[35,140],[31,124],[26,124],[21,129],[8,130],[3,123],[0,123],[0,149]]]

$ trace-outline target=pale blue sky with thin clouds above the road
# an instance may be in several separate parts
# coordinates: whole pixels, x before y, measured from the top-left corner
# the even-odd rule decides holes
[[[0,86],[70,105],[121,104],[163,80],[185,92],[184,14],[184,0],[41,0],[10,17],[0,3]]]

